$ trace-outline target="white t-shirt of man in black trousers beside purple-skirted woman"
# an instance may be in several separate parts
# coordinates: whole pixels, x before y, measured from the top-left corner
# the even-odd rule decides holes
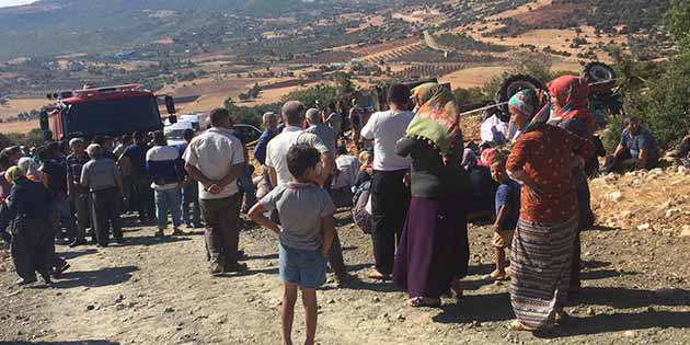
[[[395,153],[395,142],[405,135],[412,122],[412,112],[373,113],[361,128],[361,137],[373,140],[373,170],[396,171],[410,169],[412,160]]]

